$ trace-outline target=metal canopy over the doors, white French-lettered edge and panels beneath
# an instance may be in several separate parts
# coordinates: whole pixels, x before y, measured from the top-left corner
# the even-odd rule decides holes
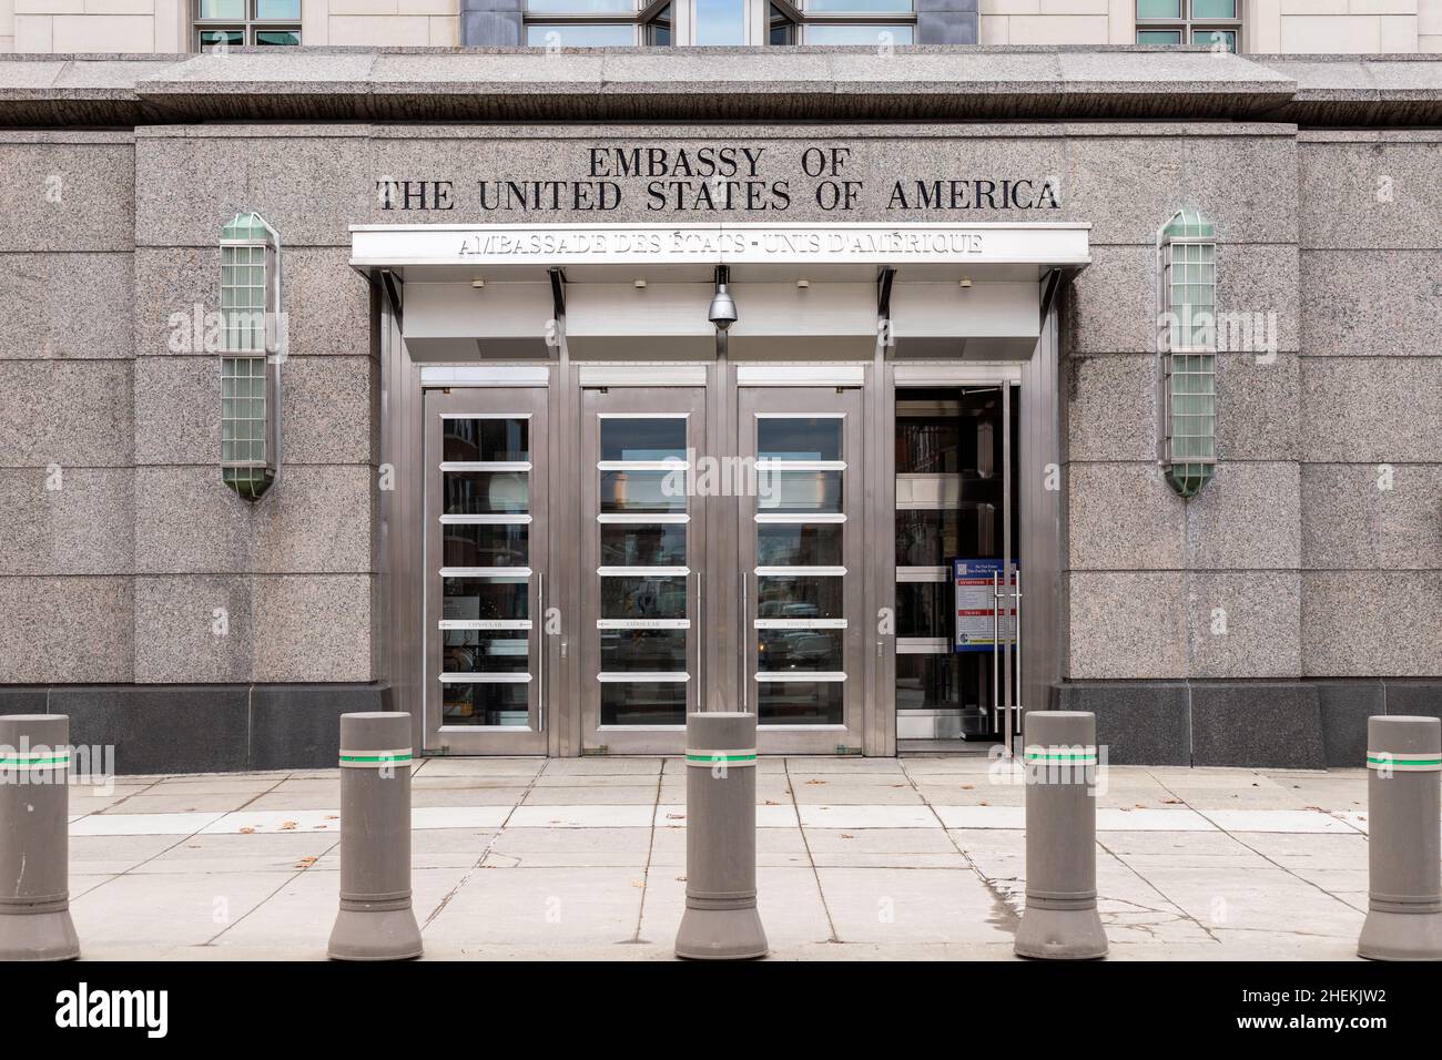
[[[733,355],[870,356],[877,317],[913,355],[1031,355],[1037,283],[1090,262],[1086,224],[358,225],[350,264],[405,286],[421,362],[541,356],[564,278],[578,356],[709,356],[718,267]],[[885,294],[878,277],[887,273]],[[846,352],[849,350],[849,353]]]

